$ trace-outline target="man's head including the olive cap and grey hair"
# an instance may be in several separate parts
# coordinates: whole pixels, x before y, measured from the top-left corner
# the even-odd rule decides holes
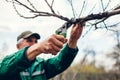
[[[22,49],[26,46],[31,46],[37,43],[38,39],[40,39],[40,35],[38,33],[24,31],[17,37],[17,48]]]

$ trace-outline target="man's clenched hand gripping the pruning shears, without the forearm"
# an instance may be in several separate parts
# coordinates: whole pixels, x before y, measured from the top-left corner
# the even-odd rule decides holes
[[[67,39],[65,39],[64,36],[53,34],[50,38],[40,43],[40,45],[42,45],[40,46],[40,50],[42,53],[52,53],[56,55],[66,42]]]

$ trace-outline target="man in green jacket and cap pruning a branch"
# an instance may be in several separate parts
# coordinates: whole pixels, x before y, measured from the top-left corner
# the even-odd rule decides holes
[[[74,24],[68,41],[62,35],[53,34],[39,43],[39,34],[23,32],[17,38],[19,51],[6,56],[0,63],[0,80],[48,80],[63,72],[77,55],[76,45],[82,30],[83,26]],[[56,56],[44,60],[37,57],[41,53]]]

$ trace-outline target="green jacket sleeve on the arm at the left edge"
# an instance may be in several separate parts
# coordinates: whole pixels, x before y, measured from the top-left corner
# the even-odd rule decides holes
[[[28,47],[23,48],[2,60],[0,63],[0,80],[3,77],[13,77],[16,73],[28,68],[32,64],[32,61],[30,62],[26,57],[27,49]]]

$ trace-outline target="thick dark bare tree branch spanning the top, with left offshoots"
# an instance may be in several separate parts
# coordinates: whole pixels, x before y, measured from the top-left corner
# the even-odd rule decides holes
[[[13,1],[17,2],[19,5],[25,7],[26,9],[28,9],[30,12],[33,13],[33,16],[30,16],[30,17],[25,17],[23,15],[18,14],[20,17],[23,17],[23,18],[26,18],[26,19],[36,18],[38,16],[46,16],[46,17],[52,16],[52,17],[57,17],[57,18],[59,18],[61,20],[68,21],[68,22],[74,24],[74,23],[80,23],[80,22],[89,21],[89,20],[96,20],[96,19],[98,19],[98,20],[102,19],[100,21],[100,22],[102,22],[102,21],[106,20],[107,18],[109,18],[111,16],[120,14],[120,6],[117,6],[112,11],[106,11],[106,12],[102,12],[102,13],[98,13],[98,14],[90,14],[88,16],[80,17],[80,18],[75,18],[75,19],[69,19],[69,18],[67,18],[65,16],[58,15],[58,14],[55,13],[55,11],[52,8],[54,0],[52,1],[51,5],[48,3],[47,0],[45,0],[45,2],[47,3],[48,7],[51,9],[52,13],[45,12],[45,11],[37,11],[36,8],[33,6],[33,4],[29,0],[27,0],[27,1],[29,1],[29,3],[31,4],[31,6],[32,6],[33,9],[30,8],[29,6],[27,6],[26,4],[23,4],[19,0],[13,0]],[[18,11],[17,11],[16,8],[15,8],[15,10],[18,13]],[[95,24],[98,24],[100,22],[97,22]]]

